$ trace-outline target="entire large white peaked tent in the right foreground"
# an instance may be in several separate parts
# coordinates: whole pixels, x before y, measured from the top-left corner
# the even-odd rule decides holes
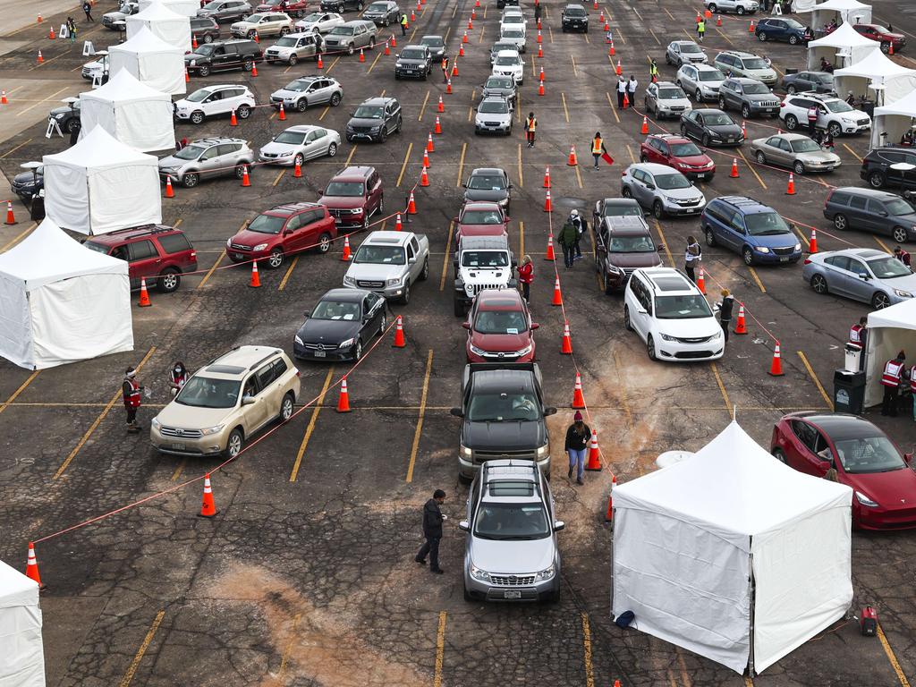
[[[613,612],[739,673],[751,659],[764,671],[852,602],[852,496],[733,421],[614,490]]]

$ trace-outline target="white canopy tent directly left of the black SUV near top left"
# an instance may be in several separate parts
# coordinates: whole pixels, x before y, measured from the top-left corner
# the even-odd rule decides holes
[[[187,93],[184,82],[184,53],[171,43],[156,36],[147,27],[141,27],[121,45],[108,49],[108,69],[114,76],[125,70],[134,78],[161,93],[177,95]],[[101,90],[101,89],[100,89]],[[169,103],[169,119],[171,118]],[[173,139],[174,140],[174,139]]]

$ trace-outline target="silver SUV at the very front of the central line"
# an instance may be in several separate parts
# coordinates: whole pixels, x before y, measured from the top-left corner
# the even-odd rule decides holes
[[[467,499],[464,600],[556,601],[560,550],[553,497],[537,463],[484,463]]]

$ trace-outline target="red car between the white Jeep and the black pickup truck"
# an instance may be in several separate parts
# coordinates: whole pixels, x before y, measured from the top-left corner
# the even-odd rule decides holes
[[[534,335],[528,303],[516,289],[485,289],[477,294],[467,322],[469,363],[529,363],[534,360]]]

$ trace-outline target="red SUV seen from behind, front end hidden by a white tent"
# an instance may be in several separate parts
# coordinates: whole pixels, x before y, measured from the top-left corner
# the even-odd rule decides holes
[[[197,269],[197,251],[180,229],[163,224],[147,224],[121,229],[88,239],[83,245],[106,256],[125,260],[130,288],[139,289],[140,279],[147,286],[171,293],[181,284],[181,275]]]

